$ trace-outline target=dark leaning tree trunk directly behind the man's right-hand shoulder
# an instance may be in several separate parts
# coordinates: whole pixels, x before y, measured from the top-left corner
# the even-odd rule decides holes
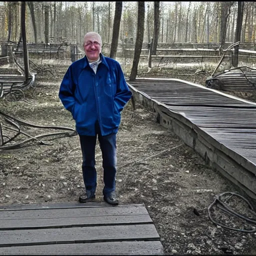
[[[112,41],[110,48],[110,58],[115,58],[118,38],[119,38],[119,28],[120,28],[120,20],[122,14],[122,2],[115,2],[115,10],[114,10],[114,22],[113,22],[113,32],[112,32]]]

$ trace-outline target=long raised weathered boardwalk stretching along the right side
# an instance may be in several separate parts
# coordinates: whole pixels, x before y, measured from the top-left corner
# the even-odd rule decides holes
[[[128,84],[163,126],[256,201],[256,103],[180,79]]]

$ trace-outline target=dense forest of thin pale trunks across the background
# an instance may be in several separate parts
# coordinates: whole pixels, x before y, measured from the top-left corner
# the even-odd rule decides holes
[[[82,43],[86,31],[98,32],[103,42],[110,42],[115,5],[118,2],[28,1],[26,5],[26,31],[28,42]],[[137,3],[119,2],[121,10],[119,42],[135,41]],[[233,42],[237,15],[242,16],[241,42],[255,41],[256,3],[241,2],[238,13],[236,1],[175,1],[143,2],[143,41],[149,42],[157,21],[159,42]],[[156,4],[155,4],[156,3]],[[18,41],[20,36],[19,1],[0,2],[0,40]],[[154,11],[156,10],[156,11]],[[155,16],[154,16],[155,15]],[[156,18],[156,20],[155,20]]]

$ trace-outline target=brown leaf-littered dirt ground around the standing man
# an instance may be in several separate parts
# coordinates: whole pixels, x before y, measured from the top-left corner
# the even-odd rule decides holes
[[[33,88],[24,91],[23,100],[0,99],[0,110],[32,124],[74,128],[71,114],[58,99],[66,66],[60,61],[58,66],[52,63],[51,68],[53,75],[47,72],[38,75]],[[32,135],[52,131],[23,125],[21,129]],[[34,142],[26,147],[0,151],[0,206],[77,201],[83,191],[78,136],[43,140],[52,145]],[[98,144],[96,168],[95,201],[103,202]],[[143,203],[146,206],[165,253],[256,253],[256,232],[222,228],[213,224],[208,216],[207,208],[215,195],[237,189],[209,168],[175,134],[158,124],[156,113],[137,103],[136,110],[128,102],[122,112],[117,133],[117,169],[116,192],[121,204]],[[229,200],[229,206],[240,213],[247,208],[242,200],[235,198]],[[249,227],[217,208],[214,218],[230,227]]]

